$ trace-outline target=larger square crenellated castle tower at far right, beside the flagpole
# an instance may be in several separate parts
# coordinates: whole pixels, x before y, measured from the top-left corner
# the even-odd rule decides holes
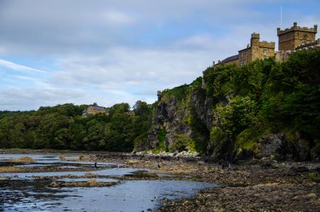
[[[297,26],[297,22],[294,22],[294,26],[281,30],[277,28],[277,35],[279,38],[279,51],[294,51],[295,48],[304,42],[311,42],[316,40],[316,33],[318,26],[314,25],[314,28]]]

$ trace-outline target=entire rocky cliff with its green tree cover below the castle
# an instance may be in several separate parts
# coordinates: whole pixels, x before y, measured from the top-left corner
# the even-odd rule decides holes
[[[317,53],[300,53],[299,60],[289,60],[276,68],[271,59],[244,68],[208,68],[203,79],[164,90],[153,105],[148,141],[137,150],[191,151],[229,161],[252,158],[319,160],[319,124],[304,118],[309,115],[314,120],[319,119],[316,106],[319,90],[312,87],[313,81],[305,81],[301,72],[294,70],[309,64],[312,73],[314,64],[319,63]],[[297,66],[304,60],[304,54],[311,54],[310,58],[314,56],[314,59]],[[274,69],[276,74],[272,73]],[[292,76],[287,77],[289,81],[279,84],[279,78],[274,78],[289,71],[292,71]],[[292,97],[299,97],[297,92],[301,90],[287,83],[292,78],[301,79],[314,89],[314,96],[307,96],[313,102],[305,102],[312,110],[304,111],[305,107],[297,110],[302,102],[292,101]],[[308,93],[301,92],[301,95]]]

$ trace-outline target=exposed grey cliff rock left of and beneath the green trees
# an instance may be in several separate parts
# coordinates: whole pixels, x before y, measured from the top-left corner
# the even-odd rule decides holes
[[[148,141],[138,151],[154,149],[166,152],[183,150],[199,152],[214,159],[238,161],[250,158],[270,159],[316,159],[311,155],[309,142],[299,134],[294,142],[282,133],[260,137],[252,147],[241,148],[234,138],[226,136],[223,142],[212,136],[215,129],[223,127],[215,105],[228,105],[228,98],[217,101],[206,95],[206,90],[185,85],[188,92],[177,98],[170,90],[155,102],[150,117]],[[211,134],[211,137],[210,137]],[[157,151],[156,151],[157,152]]]

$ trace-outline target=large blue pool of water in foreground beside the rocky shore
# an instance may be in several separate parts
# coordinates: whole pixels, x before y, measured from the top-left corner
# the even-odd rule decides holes
[[[206,189],[212,184],[195,181],[126,181],[117,186],[95,188],[53,189],[49,199],[32,198],[29,193],[19,203],[5,203],[4,211],[146,211],[156,208],[162,198],[175,199],[193,195],[193,191]],[[23,196],[21,191],[14,191]],[[2,193],[2,192],[1,192]],[[41,194],[40,192],[37,195]],[[48,191],[43,196],[48,196]],[[3,194],[6,195],[6,191]],[[47,197],[48,198],[48,197]]]

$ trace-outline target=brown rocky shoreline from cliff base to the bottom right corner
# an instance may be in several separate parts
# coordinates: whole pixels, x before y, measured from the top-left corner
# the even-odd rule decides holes
[[[136,157],[128,153],[4,150],[1,153],[96,154],[87,161],[117,161],[154,173],[189,175],[220,188],[204,189],[192,198],[162,200],[159,211],[317,211],[320,208],[319,162],[247,161],[233,170],[203,160]]]

